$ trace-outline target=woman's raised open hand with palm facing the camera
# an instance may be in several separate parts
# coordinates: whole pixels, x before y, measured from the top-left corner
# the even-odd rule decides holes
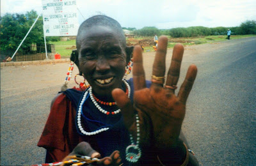
[[[146,87],[143,70],[142,52],[135,47],[133,52],[134,104],[121,89],[114,89],[113,98],[122,110],[125,126],[136,138],[136,118],[140,117],[140,147],[154,148],[155,151],[177,146],[182,121],[186,112],[186,100],[196,78],[197,68],[191,65],[186,78],[175,96],[180,74],[180,64],[184,47],[180,44],[173,48],[172,63],[164,85],[165,59],[168,39],[159,38],[152,72],[152,86]]]

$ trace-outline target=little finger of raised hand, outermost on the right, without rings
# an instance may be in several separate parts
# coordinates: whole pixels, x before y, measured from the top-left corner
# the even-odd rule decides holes
[[[186,78],[184,82],[182,83],[180,87],[180,91],[178,94],[178,98],[180,102],[186,104],[186,101],[188,99],[188,95],[193,87],[194,81],[196,79],[196,73],[197,73],[197,68],[195,64],[191,64],[188,68],[188,72],[186,75]]]

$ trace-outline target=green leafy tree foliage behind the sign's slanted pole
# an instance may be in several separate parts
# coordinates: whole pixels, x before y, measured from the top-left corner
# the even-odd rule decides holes
[[[19,13],[6,13],[1,17],[1,29],[0,29],[0,45],[1,50],[16,50],[19,47],[20,42],[28,33],[30,27],[35,22],[38,14],[35,10],[27,11],[25,14]],[[46,41],[59,41],[59,37],[47,37]],[[40,16],[28,34],[26,40],[22,43],[19,51],[30,51],[32,43],[36,43],[37,46],[44,45],[44,31],[43,31],[43,18]]]

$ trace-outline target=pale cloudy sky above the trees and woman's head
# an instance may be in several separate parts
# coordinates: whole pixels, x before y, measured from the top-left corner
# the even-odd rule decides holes
[[[234,27],[256,20],[256,0],[76,0],[79,24],[93,15],[104,14],[122,27]],[[40,0],[1,0],[5,13],[42,13]]]

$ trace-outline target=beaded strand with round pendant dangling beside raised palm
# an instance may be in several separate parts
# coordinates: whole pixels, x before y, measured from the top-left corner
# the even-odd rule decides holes
[[[140,143],[140,120],[138,114],[136,114],[136,126],[137,126],[137,141],[134,144],[132,135],[130,134],[131,145],[127,146],[125,149],[126,157],[128,162],[136,163],[141,157],[141,149],[139,147]]]

